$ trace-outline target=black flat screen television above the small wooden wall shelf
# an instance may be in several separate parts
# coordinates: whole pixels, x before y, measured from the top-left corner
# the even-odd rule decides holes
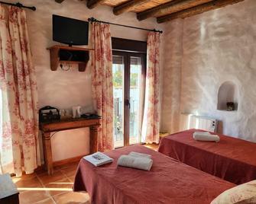
[[[88,45],[89,23],[53,14],[53,40],[72,45]]]

